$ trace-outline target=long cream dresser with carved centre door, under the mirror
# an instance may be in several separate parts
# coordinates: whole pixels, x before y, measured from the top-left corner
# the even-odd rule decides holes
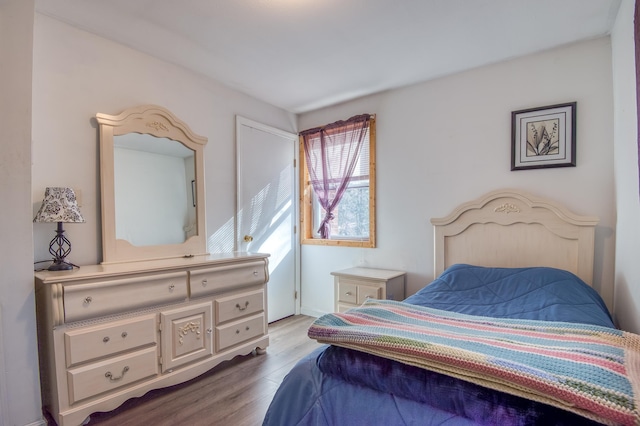
[[[36,274],[43,402],[79,425],[224,360],[264,352],[268,255],[232,253]]]

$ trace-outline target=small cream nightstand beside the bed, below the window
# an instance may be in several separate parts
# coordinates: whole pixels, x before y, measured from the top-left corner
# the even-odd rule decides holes
[[[334,276],[336,312],[360,306],[367,298],[404,299],[406,273],[402,271],[349,268],[331,275]]]

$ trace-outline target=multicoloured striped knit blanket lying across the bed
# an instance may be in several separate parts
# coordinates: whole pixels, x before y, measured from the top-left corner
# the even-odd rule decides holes
[[[459,314],[369,299],[309,337],[553,405],[640,425],[640,336],[587,324]]]

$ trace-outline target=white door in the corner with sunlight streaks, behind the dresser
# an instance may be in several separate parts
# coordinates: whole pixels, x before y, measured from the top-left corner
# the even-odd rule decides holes
[[[295,134],[236,118],[236,247],[271,255],[269,322],[299,312],[297,142]]]

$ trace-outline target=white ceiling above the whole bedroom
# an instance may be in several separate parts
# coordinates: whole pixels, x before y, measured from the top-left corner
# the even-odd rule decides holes
[[[610,32],[621,0],[36,0],[294,113]]]

